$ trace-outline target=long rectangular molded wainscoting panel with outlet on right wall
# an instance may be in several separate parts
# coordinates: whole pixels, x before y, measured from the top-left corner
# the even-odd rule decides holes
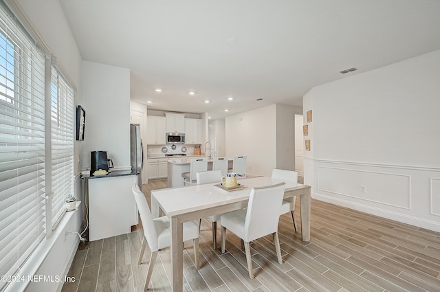
[[[318,166],[318,190],[410,209],[410,176]]]

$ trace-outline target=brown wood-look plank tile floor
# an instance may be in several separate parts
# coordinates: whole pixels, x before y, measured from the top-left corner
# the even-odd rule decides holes
[[[142,186],[148,203],[150,190],[165,186],[165,181]],[[299,212],[296,216],[300,224]],[[227,252],[220,254],[212,249],[210,227],[203,219],[199,271],[192,241],[185,244],[184,291],[440,291],[438,232],[312,200],[310,242],[293,232],[289,214],[281,216],[283,265],[271,236],[255,240],[256,278],[250,280],[239,238],[228,233]],[[141,239],[140,224],[130,234],[80,244],[68,275],[76,281],[62,291],[142,291],[149,251],[137,265]],[[159,251],[149,291],[171,291],[169,275],[167,248]]]

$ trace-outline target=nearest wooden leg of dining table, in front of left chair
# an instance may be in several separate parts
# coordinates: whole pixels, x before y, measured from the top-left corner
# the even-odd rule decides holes
[[[184,285],[184,225],[178,218],[171,218],[171,277],[173,292],[181,292]]]

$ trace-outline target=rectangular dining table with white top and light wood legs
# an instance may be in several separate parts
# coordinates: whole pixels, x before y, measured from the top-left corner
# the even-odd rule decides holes
[[[170,219],[172,234],[171,273],[173,291],[183,289],[183,223],[215,214],[222,214],[248,207],[252,188],[271,186],[285,182],[284,198],[299,196],[301,236],[310,240],[311,187],[272,177],[239,179],[240,187],[225,190],[219,183],[206,183],[181,188],[166,188],[151,191],[151,213],[154,218],[164,214]]]

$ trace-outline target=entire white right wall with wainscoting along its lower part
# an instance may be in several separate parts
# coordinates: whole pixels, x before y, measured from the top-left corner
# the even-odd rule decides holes
[[[439,64],[435,51],[307,93],[314,198],[440,231]]]

